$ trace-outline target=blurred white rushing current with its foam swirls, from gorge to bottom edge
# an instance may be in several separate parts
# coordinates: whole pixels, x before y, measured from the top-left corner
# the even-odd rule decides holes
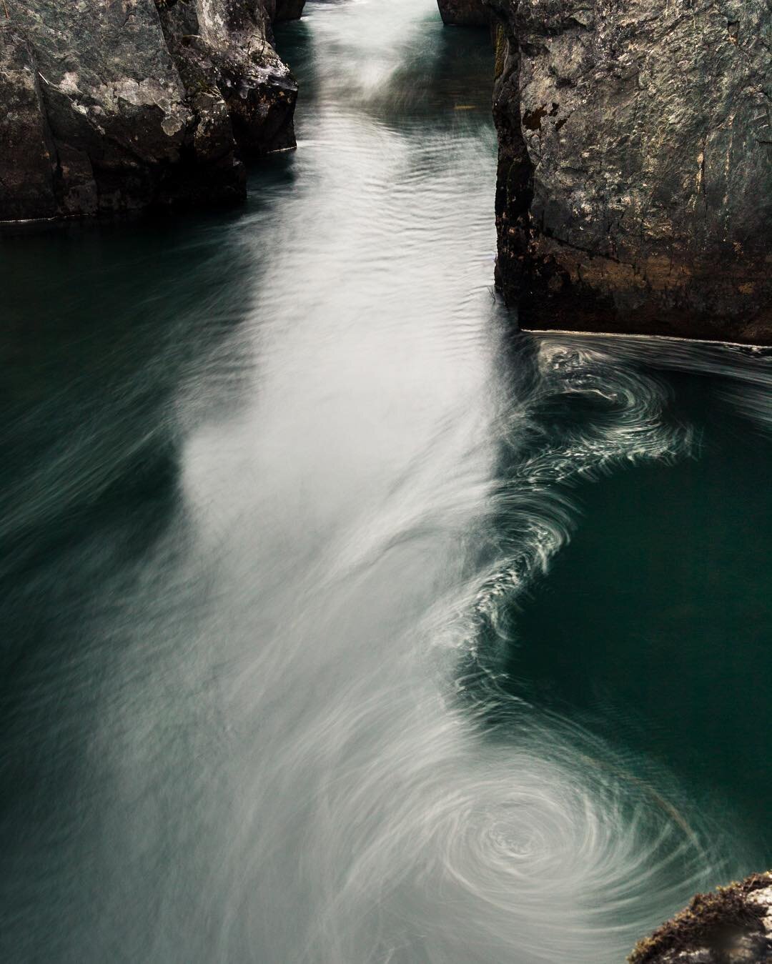
[[[37,763],[13,811],[6,959],[610,964],[741,863],[661,766],[497,666],[578,522],[572,487],[699,449],[652,369],[726,376],[765,423],[769,370],[513,335],[491,291],[489,95],[463,69],[488,55],[450,34],[434,0],[309,0],[284,38],[297,154],[256,175],[246,214],[195,228],[183,254],[216,254],[129,316],[174,315],[134,349],[143,374],[10,484],[26,565],[31,521],[172,453],[146,543],[120,554],[116,510],[27,580],[71,648],[13,738],[71,784]]]

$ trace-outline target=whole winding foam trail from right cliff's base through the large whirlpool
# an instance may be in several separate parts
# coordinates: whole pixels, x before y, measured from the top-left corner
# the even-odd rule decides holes
[[[511,637],[507,612],[570,538],[573,482],[695,444],[689,426],[668,423],[665,385],[611,348],[550,338],[519,351],[487,562],[413,643],[419,660],[435,644],[439,694],[385,689],[386,704],[352,692],[321,727],[331,777],[302,849],[325,890],[308,964],[610,964],[732,870],[721,834],[667,774],[633,776],[632,762],[495,678],[489,651]],[[572,417],[582,405],[591,416]],[[449,608],[460,613],[450,626]],[[490,729],[492,708],[506,727]],[[321,746],[309,737],[292,767]]]

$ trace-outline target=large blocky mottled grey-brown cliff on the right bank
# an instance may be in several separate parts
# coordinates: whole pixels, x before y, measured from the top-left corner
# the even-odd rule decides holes
[[[770,0],[486,0],[524,328],[772,340]]]

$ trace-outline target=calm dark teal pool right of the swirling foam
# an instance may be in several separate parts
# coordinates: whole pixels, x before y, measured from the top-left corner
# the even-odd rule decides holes
[[[507,665],[538,703],[672,768],[691,798],[730,818],[762,868],[772,862],[772,426],[766,391],[759,426],[722,398],[716,367],[666,378],[671,417],[696,431],[689,457],[575,493],[572,542],[514,617]]]

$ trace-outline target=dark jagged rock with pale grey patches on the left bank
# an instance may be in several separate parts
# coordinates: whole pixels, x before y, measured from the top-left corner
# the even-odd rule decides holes
[[[9,0],[0,221],[243,197],[244,158],[295,143],[271,22],[302,7]]]

